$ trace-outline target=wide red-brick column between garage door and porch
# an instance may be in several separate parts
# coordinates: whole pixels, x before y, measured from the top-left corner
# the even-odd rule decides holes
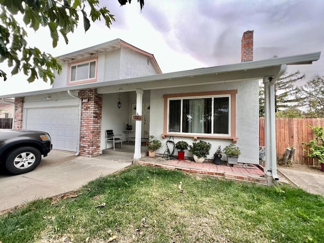
[[[82,102],[80,155],[93,157],[100,154],[102,95],[97,89],[80,90]]]

